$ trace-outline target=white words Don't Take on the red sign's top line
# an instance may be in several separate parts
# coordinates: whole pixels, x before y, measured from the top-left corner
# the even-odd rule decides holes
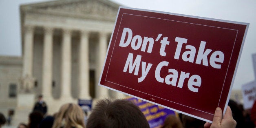
[[[141,49],[143,52],[152,53],[154,42],[157,42],[163,34],[158,34],[157,39],[154,40],[153,38],[142,37],[140,35],[132,35],[132,30],[129,28],[124,28],[121,36],[121,40],[119,43],[119,46],[121,47],[127,47],[131,45],[132,49],[138,50]],[[126,41],[125,41],[126,39]],[[180,56],[184,62],[191,62],[195,64],[201,64],[204,66],[212,66],[213,68],[221,68],[221,64],[224,62],[224,53],[222,51],[213,51],[212,49],[205,49],[206,42],[201,41],[200,46],[198,50],[195,46],[192,45],[185,45],[185,51],[181,52],[182,49],[184,49],[183,44],[187,44],[188,39],[186,38],[180,38],[175,37],[175,42],[177,42],[176,51],[174,54],[174,59],[179,60]],[[173,41],[174,43],[174,41]],[[166,46],[170,44],[170,41],[168,41],[168,37],[163,37],[160,41],[161,48],[159,50],[159,54],[161,56],[166,56]],[[148,49],[146,51],[146,47],[148,46]],[[197,51],[197,55],[196,55]],[[170,52],[170,51],[169,51]],[[182,54],[182,55],[181,55]],[[210,56],[209,62],[208,62],[208,56]]]

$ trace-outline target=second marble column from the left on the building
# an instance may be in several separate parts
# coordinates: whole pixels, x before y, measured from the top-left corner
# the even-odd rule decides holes
[[[52,97],[53,28],[44,28],[44,49],[42,67],[42,94]]]

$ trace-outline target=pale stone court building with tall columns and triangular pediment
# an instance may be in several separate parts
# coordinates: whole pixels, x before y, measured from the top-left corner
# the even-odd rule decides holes
[[[15,65],[19,69],[13,75],[17,94],[11,107],[16,115],[29,114],[40,94],[49,114],[78,99],[124,97],[98,86],[119,6],[110,0],[20,6],[22,57]],[[4,109],[0,106],[0,110]]]

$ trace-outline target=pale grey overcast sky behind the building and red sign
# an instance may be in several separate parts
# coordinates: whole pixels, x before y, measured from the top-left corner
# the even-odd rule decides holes
[[[21,56],[19,5],[49,0],[0,0],[0,55]],[[254,81],[256,0],[112,0],[126,7],[250,23],[233,89]]]

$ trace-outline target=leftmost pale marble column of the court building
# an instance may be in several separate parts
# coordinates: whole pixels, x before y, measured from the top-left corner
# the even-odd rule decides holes
[[[34,26],[24,27],[22,89],[30,92],[33,88],[33,40]]]

